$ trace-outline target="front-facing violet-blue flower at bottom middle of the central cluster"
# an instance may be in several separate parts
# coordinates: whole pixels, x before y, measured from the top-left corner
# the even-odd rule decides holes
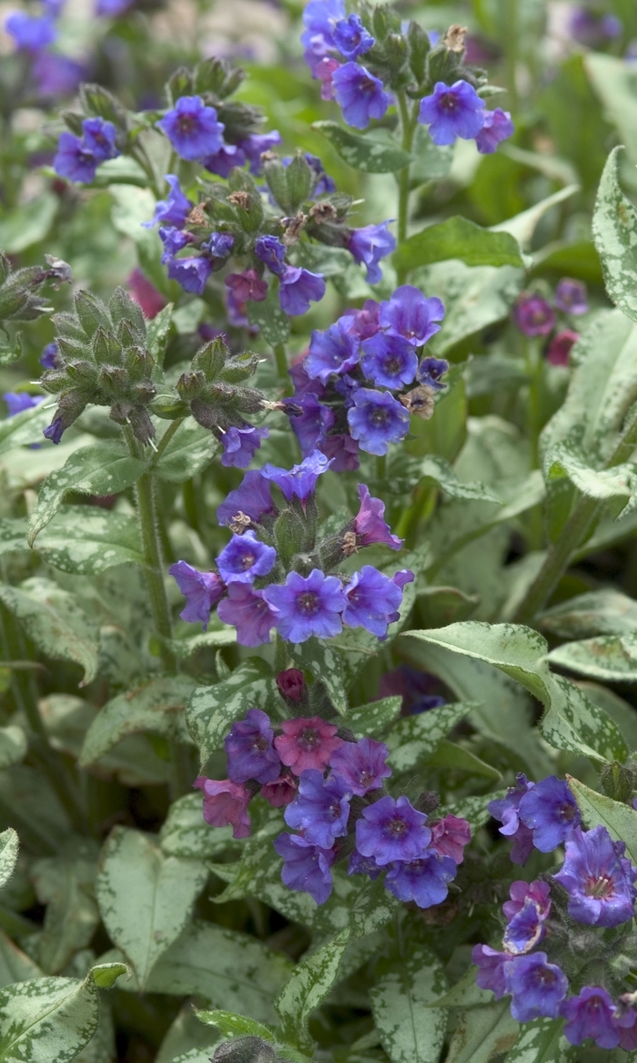
[[[285,585],[271,584],[263,597],[274,613],[279,635],[290,642],[306,642],[313,635],[331,639],[343,629],[346,602],[341,580],[312,569],[305,578],[289,572]]]

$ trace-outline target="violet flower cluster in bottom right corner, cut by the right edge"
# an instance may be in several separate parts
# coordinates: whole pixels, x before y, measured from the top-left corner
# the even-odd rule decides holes
[[[502,948],[474,948],[478,984],[496,999],[510,994],[520,1023],[564,1018],[573,1045],[592,1039],[600,1048],[635,1049],[637,1011],[625,978],[634,966],[637,867],[624,843],[603,826],[584,830],[573,795],[554,776],[535,784],[518,775],[488,808],[514,840],[515,863],[533,847],[564,845],[565,857],[554,874],[512,884]]]

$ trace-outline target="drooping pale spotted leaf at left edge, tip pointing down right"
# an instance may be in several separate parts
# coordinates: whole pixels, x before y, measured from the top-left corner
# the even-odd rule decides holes
[[[20,587],[0,584],[0,601],[47,657],[84,669],[85,686],[98,674],[98,629],[78,598],[49,579],[33,576]]]

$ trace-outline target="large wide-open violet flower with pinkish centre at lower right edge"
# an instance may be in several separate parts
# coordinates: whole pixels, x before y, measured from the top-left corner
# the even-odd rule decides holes
[[[633,918],[637,871],[623,851],[617,851],[606,828],[582,831],[574,827],[565,844],[564,864],[555,880],[570,894],[569,915],[600,927],[616,927]]]

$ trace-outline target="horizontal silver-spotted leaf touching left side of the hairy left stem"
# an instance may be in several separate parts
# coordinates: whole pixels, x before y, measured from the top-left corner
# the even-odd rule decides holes
[[[40,534],[36,550],[53,568],[75,575],[145,564],[135,517],[98,506],[65,506]]]

